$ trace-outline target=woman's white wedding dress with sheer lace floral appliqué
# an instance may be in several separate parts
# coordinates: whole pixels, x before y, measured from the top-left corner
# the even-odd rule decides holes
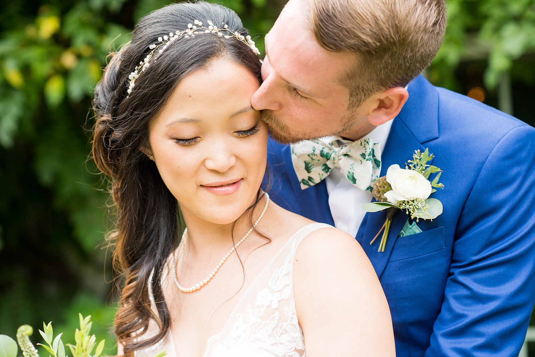
[[[247,288],[223,330],[208,339],[204,357],[304,357],[292,283],[294,255],[304,237],[325,227],[332,226],[309,224],[288,240]],[[182,357],[171,331],[135,355],[152,357],[164,350],[167,357]]]

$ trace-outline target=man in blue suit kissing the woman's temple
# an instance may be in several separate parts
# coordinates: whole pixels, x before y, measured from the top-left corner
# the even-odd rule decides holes
[[[443,0],[290,0],[266,35],[252,99],[277,141],[270,193],[356,237],[383,285],[398,356],[516,357],[535,300],[535,129],[419,75],[445,27]],[[322,142],[379,143],[380,176],[429,148],[444,212],[412,223],[399,211],[378,252],[380,239],[370,242],[386,211],[362,211],[371,193],[338,167],[303,189],[291,146],[278,143],[333,135]]]

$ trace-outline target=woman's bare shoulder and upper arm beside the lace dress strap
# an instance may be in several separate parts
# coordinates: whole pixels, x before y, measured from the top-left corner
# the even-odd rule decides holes
[[[317,229],[297,246],[293,267],[307,356],[395,355],[385,294],[355,238],[333,227]]]

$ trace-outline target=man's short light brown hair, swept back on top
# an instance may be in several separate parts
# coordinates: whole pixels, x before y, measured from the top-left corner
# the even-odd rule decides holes
[[[355,53],[342,78],[350,107],[392,87],[405,87],[433,60],[446,30],[444,0],[311,0],[318,43]]]

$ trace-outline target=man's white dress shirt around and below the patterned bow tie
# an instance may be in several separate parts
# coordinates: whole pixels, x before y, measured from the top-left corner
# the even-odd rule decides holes
[[[362,137],[362,139],[371,138],[373,143],[381,144],[382,155],[391,128],[392,120],[389,120],[383,125],[370,131],[370,133]],[[334,138],[335,137],[326,137],[323,139],[332,142]],[[351,142],[348,140],[339,140],[339,143],[344,145]],[[382,161],[383,160],[381,159],[381,162]],[[373,198],[372,193],[363,191],[352,185],[338,167],[335,167],[326,177],[325,183],[327,184],[329,207],[331,208],[334,227],[355,237],[358,228],[361,226],[362,220],[364,219],[364,215],[366,214],[361,206],[363,203],[371,202]]]

